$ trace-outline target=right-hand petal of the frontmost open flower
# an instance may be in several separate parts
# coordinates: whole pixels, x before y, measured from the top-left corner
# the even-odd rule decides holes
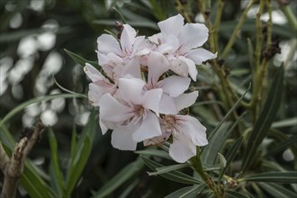
[[[148,90],[145,94],[143,94],[142,106],[158,114],[158,105],[160,103],[162,94],[162,89]]]

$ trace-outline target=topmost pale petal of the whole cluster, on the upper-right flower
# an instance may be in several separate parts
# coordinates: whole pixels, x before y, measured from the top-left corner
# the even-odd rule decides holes
[[[162,22],[157,23],[162,33],[177,35],[184,25],[184,17],[181,14],[172,16]]]

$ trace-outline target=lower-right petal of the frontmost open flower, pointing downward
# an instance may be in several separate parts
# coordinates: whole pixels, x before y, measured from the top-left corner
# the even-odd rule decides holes
[[[141,121],[139,129],[133,133],[132,138],[139,142],[159,135],[162,135],[162,132],[157,115],[147,110],[147,116]]]

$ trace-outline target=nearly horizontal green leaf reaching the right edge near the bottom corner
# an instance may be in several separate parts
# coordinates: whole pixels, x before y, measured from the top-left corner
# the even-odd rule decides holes
[[[253,182],[297,184],[297,171],[260,173],[243,177],[242,180]]]

